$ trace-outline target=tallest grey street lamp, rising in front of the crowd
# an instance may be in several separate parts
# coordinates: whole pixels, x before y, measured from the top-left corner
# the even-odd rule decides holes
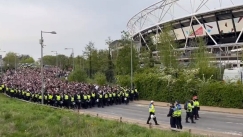
[[[41,45],[41,96],[42,96],[42,100],[41,103],[44,104],[44,76],[43,76],[43,33],[50,33],[50,34],[57,34],[55,31],[51,31],[51,32],[46,32],[46,31],[41,31],[41,39],[40,39],[40,45]]]

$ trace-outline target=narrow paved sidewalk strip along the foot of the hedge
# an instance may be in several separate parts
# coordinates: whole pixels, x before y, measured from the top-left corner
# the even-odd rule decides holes
[[[142,104],[142,105],[149,105],[150,101],[139,100],[139,101],[134,101],[134,103]],[[160,106],[160,107],[168,107],[169,106],[169,103],[166,103],[166,102],[156,102],[156,101],[154,101],[154,103],[155,103],[155,106]],[[181,105],[182,105],[182,107],[184,106],[184,104],[181,104]],[[243,115],[243,109],[235,109],[235,108],[220,108],[220,107],[200,106],[200,110]]]

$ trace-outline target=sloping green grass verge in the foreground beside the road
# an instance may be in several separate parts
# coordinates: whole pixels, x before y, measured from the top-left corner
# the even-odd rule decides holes
[[[25,103],[0,94],[0,137],[188,137]]]

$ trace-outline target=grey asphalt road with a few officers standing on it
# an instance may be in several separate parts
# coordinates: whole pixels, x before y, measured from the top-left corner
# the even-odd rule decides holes
[[[169,108],[156,107],[156,117],[158,123],[168,124],[169,117],[167,117]],[[98,114],[108,114],[114,116],[121,116],[124,118],[135,119],[147,122],[148,118],[148,105],[140,105],[130,103],[129,105],[113,105],[104,108],[91,108],[86,111],[95,112]],[[232,135],[243,135],[243,115],[216,113],[200,111],[200,119],[196,124],[185,123],[185,111],[182,113],[182,125],[185,128],[197,128],[206,131],[214,131]],[[190,120],[189,120],[190,121]],[[151,121],[153,122],[153,120]]]

